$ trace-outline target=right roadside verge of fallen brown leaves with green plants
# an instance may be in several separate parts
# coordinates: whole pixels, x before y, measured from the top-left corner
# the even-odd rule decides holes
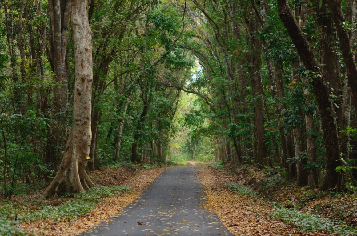
[[[356,217],[355,195],[319,196],[287,182],[276,169],[212,167],[200,171],[207,207],[235,235],[355,235],[353,224],[344,222],[348,217],[328,217],[336,214],[343,201],[347,202],[339,212],[349,206],[344,214]],[[321,211],[327,206],[330,214]]]

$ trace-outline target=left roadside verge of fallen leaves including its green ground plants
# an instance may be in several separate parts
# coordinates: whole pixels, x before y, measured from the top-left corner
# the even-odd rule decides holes
[[[95,187],[73,198],[37,200],[41,191],[1,202],[0,235],[76,235],[131,204],[169,167],[116,166],[90,173]]]

